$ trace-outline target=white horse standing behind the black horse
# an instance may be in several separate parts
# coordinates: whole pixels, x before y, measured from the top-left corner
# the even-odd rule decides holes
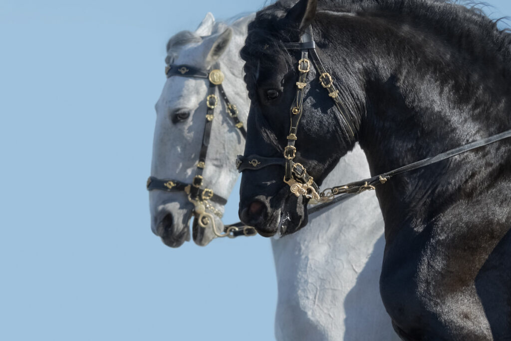
[[[208,13],[195,32],[180,32],[167,44],[167,64],[210,70],[219,63],[225,75],[225,93],[238,105],[243,122],[249,101],[239,50],[251,17],[228,27]],[[167,80],[156,103],[152,176],[193,181],[207,91],[207,79],[174,76]],[[234,165],[236,155],[243,152],[244,139],[225,115],[225,103],[216,110],[203,178],[206,187],[227,198],[238,177]],[[326,185],[330,179],[347,183],[368,175],[365,156],[357,147],[343,158]],[[221,204],[212,204],[217,213],[223,212]],[[193,209],[183,192],[151,191],[152,231],[169,246],[181,245],[190,240]],[[217,233],[223,230],[219,216],[214,218]],[[193,237],[197,244],[206,245],[215,233],[194,223]],[[277,340],[399,339],[379,294],[383,219],[374,193],[361,194],[321,215],[313,214],[307,228],[271,243],[278,282]]]

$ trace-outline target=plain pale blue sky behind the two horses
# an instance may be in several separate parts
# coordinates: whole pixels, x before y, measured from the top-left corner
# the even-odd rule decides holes
[[[171,249],[145,190],[168,38],[263,4],[0,3],[0,339],[274,339],[269,240]]]

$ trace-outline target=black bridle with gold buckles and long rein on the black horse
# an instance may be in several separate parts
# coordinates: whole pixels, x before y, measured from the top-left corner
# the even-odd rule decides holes
[[[316,43],[312,35],[312,27],[309,26],[300,37],[300,42],[285,43],[287,50],[300,50],[301,58],[298,60],[298,81],[296,82],[296,96],[290,109],[290,129],[287,136],[287,146],[284,148],[284,157],[265,157],[257,154],[248,156],[238,155],[237,168],[239,172],[245,170],[259,170],[271,165],[280,165],[284,167],[284,183],[289,185],[291,193],[299,197],[303,195],[310,199],[309,204],[318,204],[309,213],[316,212],[331,206],[334,203],[351,198],[354,195],[366,190],[375,190],[377,185],[387,182],[392,176],[402,174],[414,169],[422,168],[433,163],[446,160],[447,158],[479,148],[491,143],[511,137],[511,130],[501,132],[489,138],[475,141],[436,156],[425,158],[424,160],[382,173],[367,179],[355,181],[350,184],[334,186],[319,192],[319,186],[314,178],[307,173],[307,169],[294,162],[296,156],[295,142],[297,140],[296,132],[298,123],[303,115],[304,88],[307,85],[307,76],[310,72],[311,61],[319,74],[321,86],[328,91],[328,95],[335,103],[337,108],[336,118],[345,137],[353,140],[357,138],[357,131],[360,127],[360,119],[355,117],[351,111],[346,110],[343,102],[339,98],[339,91],[334,84],[332,76],[324,69],[319,56],[316,53]]]

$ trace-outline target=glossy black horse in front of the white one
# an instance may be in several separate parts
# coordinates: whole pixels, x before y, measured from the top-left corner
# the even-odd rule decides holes
[[[331,96],[301,61],[304,81],[304,54],[289,49],[309,27]],[[245,155],[274,162],[243,173],[240,217],[265,236],[307,224],[309,199],[284,183],[283,152],[321,184],[356,142],[380,174],[511,129],[511,35],[448,1],[278,2],[258,12],[241,54],[252,100]],[[399,335],[511,339],[509,140],[392,177],[377,196],[380,289]]]

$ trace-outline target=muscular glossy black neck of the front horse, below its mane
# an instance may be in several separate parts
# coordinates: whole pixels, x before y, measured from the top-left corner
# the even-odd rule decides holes
[[[352,24],[363,38],[345,37],[322,55],[338,56],[342,51],[347,62],[332,63],[343,65],[340,75],[353,75],[345,84],[359,86],[350,91],[365,103],[359,142],[372,174],[511,129],[511,70],[501,55],[482,53],[478,44],[483,42],[453,44],[456,38],[446,42],[449,39],[429,31],[394,30],[393,24],[378,29],[359,21]],[[374,35],[364,37],[367,34]],[[463,39],[463,34],[458,36]],[[480,150],[470,154],[382,186],[377,194],[386,223],[424,217],[425,210],[474,195],[481,179],[495,171],[483,165],[509,162]],[[477,180],[471,180],[474,177]]]

